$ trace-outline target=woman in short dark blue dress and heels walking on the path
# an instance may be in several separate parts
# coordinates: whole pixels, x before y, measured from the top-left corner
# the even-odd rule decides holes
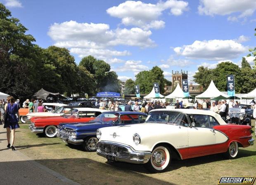
[[[5,125],[7,131],[7,148],[14,148],[14,139],[15,139],[15,129],[19,128],[19,109],[17,104],[15,104],[15,99],[12,96],[7,97],[7,104],[5,104]],[[12,133],[12,146],[10,146],[10,133]]]

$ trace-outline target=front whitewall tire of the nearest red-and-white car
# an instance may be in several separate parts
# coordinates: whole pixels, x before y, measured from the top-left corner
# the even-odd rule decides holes
[[[157,146],[152,151],[149,162],[145,164],[147,170],[161,173],[168,169],[171,164],[171,150],[168,146]]]

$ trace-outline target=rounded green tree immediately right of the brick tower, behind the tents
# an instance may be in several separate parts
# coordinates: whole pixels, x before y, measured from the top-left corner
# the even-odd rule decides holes
[[[213,69],[208,69],[208,67],[200,66],[198,67],[198,72],[195,73],[194,82],[200,84],[204,90],[208,88],[213,79]]]

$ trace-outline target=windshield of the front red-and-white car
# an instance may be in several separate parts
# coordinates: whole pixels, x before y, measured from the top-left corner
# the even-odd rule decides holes
[[[187,116],[176,111],[152,111],[147,116],[146,122],[188,126]]]

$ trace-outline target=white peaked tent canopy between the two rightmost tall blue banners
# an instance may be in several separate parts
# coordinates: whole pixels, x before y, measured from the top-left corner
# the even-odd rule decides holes
[[[209,87],[204,91],[204,93],[202,93],[201,95],[197,95],[196,98],[197,99],[212,99],[218,96],[223,96],[225,98],[227,98],[227,95],[224,95],[223,93],[221,93],[215,86],[215,84],[213,83],[213,81],[211,81]]]

